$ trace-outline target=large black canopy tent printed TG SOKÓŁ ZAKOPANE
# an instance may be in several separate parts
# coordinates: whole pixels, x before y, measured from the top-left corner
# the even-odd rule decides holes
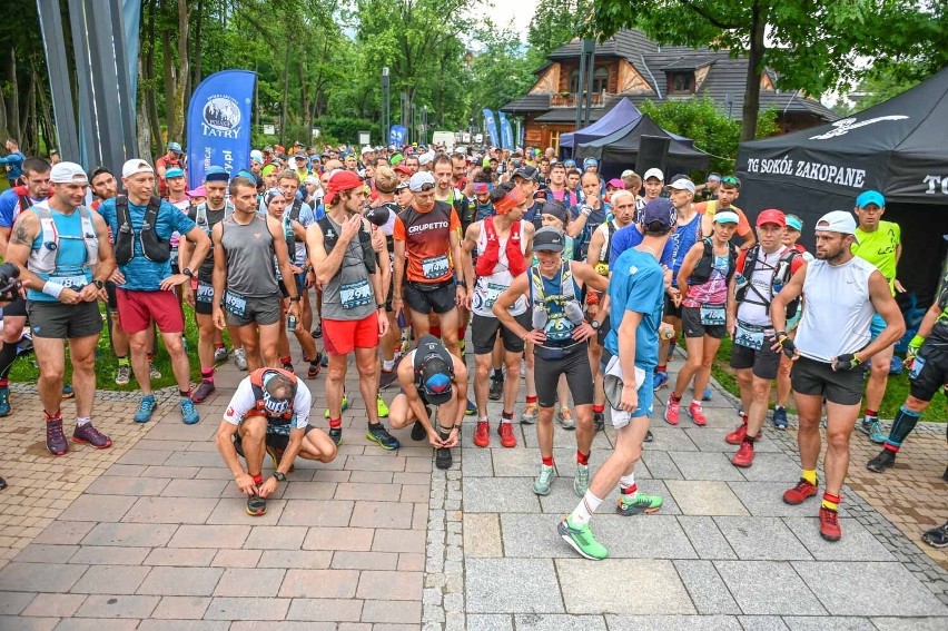
[[[948,249],[948,68],[849,118],[742,142],[737,172],[738,206],[751,219],[764,208],[799,215],[808,247],[821,215],[880,190],[883,219],[901,227],[899,279],[930,303]]]

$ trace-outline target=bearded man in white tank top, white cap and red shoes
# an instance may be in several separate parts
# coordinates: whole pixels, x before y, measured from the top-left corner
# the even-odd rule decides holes
[[[793,384],[800,430],[802,474],[783,494],[788,504],[800,504],[817,494],[817,459],[820,455],[820,415],[827,403],[826,490],[820,506],[820,535],[839,541],[842,531],[837,510],[849,467],[849,437],[862,401],[865,363],[905,334],[905,321],[889,285],[871,263],[852,255],[856,220],[843,210],[823,215],[816,226],[817,260],[796,274],[773,298],[773,348],[793,361]],[[797,339],[787,336],[784,308],[803,294],[803,316]],[[869,327],[878,313],[886,328],[870,342]]]

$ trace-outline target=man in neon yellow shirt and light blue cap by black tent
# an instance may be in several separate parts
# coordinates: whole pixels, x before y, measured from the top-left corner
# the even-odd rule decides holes
[[[859,226],[856,228],[857,241],[852,244],[852,254],[875,265],[895,296],[896,293],[905,292],[905,287],[896,278],[896,267],[902,255],[902,231],[893,221],[883,221],[886,213],[886,198],[878,190],[863,190],[856,198],[853,209]],[[872,338],[886,327],[885,321],[876,314],[872,318]],[[866,415],[857,425],[859,430],[869,435],[873,443],[885,443],[888,434],[879,423],[878,410],[886,396],[886,385],[889,381],[889,366],[892,363],[895,345],[886,351],[877,353],[872,357],[872,372],[866,386]]]

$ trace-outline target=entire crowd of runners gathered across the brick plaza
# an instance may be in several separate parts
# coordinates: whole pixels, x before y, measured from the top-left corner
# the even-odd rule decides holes
[[[556,425],[574,431],[579,503],[557,531],[590,559],[608,556],[590,523],[616,485],[620,514],[661,509],[662,497],[640,491],[634,476],[652,440],[653,402],[664,400],[670,426],[704,426],[725,337],[741,400],[724,438],[735,446],[732,463],[752,466],[768,415],[774,430],[787,428],[792,390],[801,474],[783,501],[819,495],[824,425],[818,514],[829,541],[842,534],[852,430],[883,445],[867,465],[882,473],[948,383],[944,289],[909,343],[911,394],[885,432],[877,411],[906,326],[893,298],[903,290],[899,227],[881,220],[886,200],[875,190],[852,213],[822,216],[811,254],[797,243],[806,230],[798,216],[771,208],[751,224],[734,176],[695,185],[650,168],[605,180],[595,159],[561,160],[553,149],[319,151],[297,142],[251,151],[240,170],[210,166],[188,190],[176,142],[154,166],[131,159],[117,175],[27,158],[14,140],[7,148],[0,254],[23,292],[3,307],[0,416],[12,414],[7,379],[29,323],[50,453],[69,451],[60,404],[73,393],[72,441],[111,445],[92,424],[101,302],[115,381],[134,377],[141,393],[137,423],[157,408],[156,344],[170,357],[186,424],[200,421],[196,406],[215,392],[216,366],[233,357],[247,371],[216,441],[253,515],[266,512],[296,457],[336,457],[355,396],[344,387],[350,358],[366,436],[397,450],[386,423],[411,427],[440,469],[452,465],[465,416],[474,417],[476,447],[514,448],[513,423],[536,424],[533,491],[546,495]],[[184,336],[191,316],[196,349]],[[296,363],[290,335],[302,349]],[[683,362],[670,383],[677,347]],[[325,424],[310,418],[307,385],[320,374]],[[502,402],[500,418],[490,417],[488,401]],[[615,447],[593,472],[593,438],[606,424]],[[275,471],[264,479],[266,454]],[[948,524],[925,539],[948,545]]]

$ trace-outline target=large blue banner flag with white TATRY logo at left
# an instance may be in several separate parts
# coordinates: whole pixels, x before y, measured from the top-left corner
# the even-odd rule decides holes
[[[194,91],[188,106],[188,186],[204,181],[207,167],[236,175],[250,166],[250,106],[257,73],[215,72]]]

